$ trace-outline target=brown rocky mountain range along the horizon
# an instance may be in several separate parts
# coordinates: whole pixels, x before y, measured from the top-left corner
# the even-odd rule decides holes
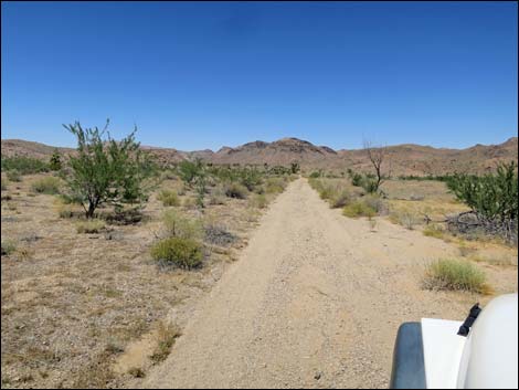
[[[2,156],[31,156],[49,159],[54,147],[21,139],[2,139]],[[71,148],[57,148],[62,154],[73,152]],[[273,143],[256,140],[237,147],[223,147],[218,151],[181,151],[173,148],[142,146],[153,154],[159,162],[178,162],[183,159],[202,158],[215,165],[240,164],[288,166],[298,162],[301,168],[331,171],[369,170],[366,150],[333,150],[316,146],[298,138],[283,138]],[[518,160],[518,138],[512,137],[499,145],[476,145],[466,149],[433,148],[413,144],[389,146],[388,161],[391,160],[394,175],[443,175],[454,171],[485,172],[495,169],[498,162]]]

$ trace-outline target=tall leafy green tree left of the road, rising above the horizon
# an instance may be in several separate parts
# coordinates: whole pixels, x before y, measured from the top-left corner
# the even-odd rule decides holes
[[[120,209],[125,203],[142,203],[150,190],[156,168],[135,140],[134,129],[120,141],[103,130],[83,128],[78,122],[63,125],[77,138],[77,154],[68,158],[65,180],[72,196],[81,199],[87,218],[103,203]],[[104,138],[106,134],[106,138]]]

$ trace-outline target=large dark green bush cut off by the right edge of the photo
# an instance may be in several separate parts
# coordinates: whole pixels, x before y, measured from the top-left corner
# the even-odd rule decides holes
[[[490,233],[517,239],[519,212],[517,166],[501,164],[495,173],[456,173],[447,180],[456,199],[467,204]]]

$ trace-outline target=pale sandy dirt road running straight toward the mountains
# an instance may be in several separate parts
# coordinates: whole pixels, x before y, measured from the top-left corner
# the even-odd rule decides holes
[[[372,231],[299,179],[144,386],[386,387],[399,324],[462,319],[477,299],[420,288],[424,262],[454,252],[382,220]]]

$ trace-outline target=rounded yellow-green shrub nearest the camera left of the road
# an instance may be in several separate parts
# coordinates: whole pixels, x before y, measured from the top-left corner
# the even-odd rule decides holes
[[[192,239],[172,236],[157,242],[151,257],[180,268],[195,268],[202,264],[202,245]]]

